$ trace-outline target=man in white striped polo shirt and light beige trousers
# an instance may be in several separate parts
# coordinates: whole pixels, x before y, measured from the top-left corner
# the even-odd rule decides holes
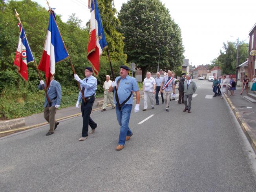
[[[155,79],[151,77],[151,73],[147,72],[147,77],[143,80],[143,93],[144,93],[144,108],[143,111],[148,110],[148,99],[151,108],[154,109],[154,94],[155,94]]]

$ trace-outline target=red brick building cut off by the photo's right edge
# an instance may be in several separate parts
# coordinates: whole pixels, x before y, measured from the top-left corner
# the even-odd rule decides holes
[[[252,75],[256,74],[256,23],[249,32],[249,61],[248,61],[248,78],[251,80]],[[251,87],[251,82],[249,84]]]

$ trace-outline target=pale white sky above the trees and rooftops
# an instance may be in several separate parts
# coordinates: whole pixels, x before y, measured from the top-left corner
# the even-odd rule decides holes
[[[46,0],[35,0],[48,7]],[[99,0],[98,0],[99,1]],[[88,0],[48,0],[55,13],[67,21],[76,13],[85,26],[90,20]],[[127,0],[114,0],[117,12]],[[185,59],[192,65],[211,64],[223,42],[249,43],[249,31],[256,23],[256,0],[161,0],[181,28]],[[104,26],[103,26],[104,27]]]

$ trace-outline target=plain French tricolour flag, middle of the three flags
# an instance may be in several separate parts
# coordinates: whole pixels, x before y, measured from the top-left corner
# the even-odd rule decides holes
[[[51,75],[55,74],[55,64],[68,57],[53,11],[50,12],[49,26],[46,40],[44,43],[44,51],[38,65],[38,69],[44,71],[46,87],[49,86]]]

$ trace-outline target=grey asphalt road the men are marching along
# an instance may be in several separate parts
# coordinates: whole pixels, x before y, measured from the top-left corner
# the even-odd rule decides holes
[[[141,101],[121,151],[115,110],[91,114],[98,128],[86,141],[78,141],[81,116],[50,136],[42,126],[1,138],[0,191],[255,192],[251,146],[225,99],[211,98],[212,83],[196,83],[192,113],[177,101],[170,112],[162,104],[143,112]]]

